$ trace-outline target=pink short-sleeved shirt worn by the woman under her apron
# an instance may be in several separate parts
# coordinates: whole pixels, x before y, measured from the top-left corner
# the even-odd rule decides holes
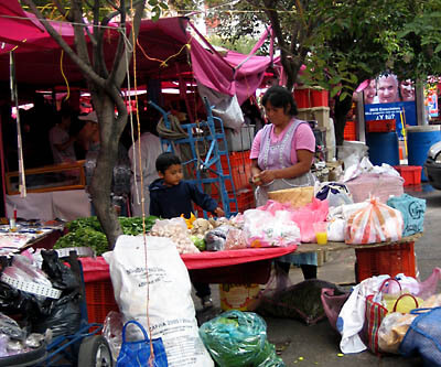
[[[293,123],[291,121],[284,130],[276,136],[273,133],[273,127],[271,129],[271,143],[277,143],[283,139],[284,134],[287,133],[289,127]],[[251,160],[257,159],[260,152],[260,143],[261,143],[261,134],[262,130],[259,130],[252,141],[251,152],[249,158]],[[311,128],[306,123],[301,123],[295,130],[294,139],[292,139],[292,150],[291,150],[291,163],[297,163],[297,150],[309,150],[310,152],[315,151],[315,138],[314,133],[312,132]]]

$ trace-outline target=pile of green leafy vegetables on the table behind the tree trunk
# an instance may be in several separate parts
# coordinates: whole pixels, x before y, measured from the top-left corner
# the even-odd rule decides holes
[[[142,234],[142,217],[119,217],[122,233],[129,236]],[[146,218],[146,231],[150,231],[158,217],[151,215]],[[103,233],[98,218],[78,218],[67,223],[68,234],[61,237],[54,248],[90,247],[97,256],[109,250],[106,235]]]

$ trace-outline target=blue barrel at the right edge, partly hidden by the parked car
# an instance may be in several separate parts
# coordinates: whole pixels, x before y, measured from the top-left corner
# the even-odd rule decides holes
[[[430,147],[441,141],[441,126],[411,126],[406,128],[406,132],[409,165],[423,166]],[[421,170],[421,181],[428,181],[424,175],[424,170]]]

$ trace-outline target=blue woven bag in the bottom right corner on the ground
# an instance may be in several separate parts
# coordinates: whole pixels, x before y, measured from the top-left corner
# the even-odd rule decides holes
[[[441,366],[441,307],[412,310],[410,324],[399,352],[405,357],[419,353],[424,366]]]

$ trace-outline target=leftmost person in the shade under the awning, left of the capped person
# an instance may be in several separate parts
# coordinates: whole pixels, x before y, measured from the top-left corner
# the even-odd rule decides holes
[[[74,142],[76,137],[71,137],[68,131],[71,128],[72,111],[62,109],[60,111],[60,122],[49,131],[49,141],[52,149],[54,163],[75,162]]]

